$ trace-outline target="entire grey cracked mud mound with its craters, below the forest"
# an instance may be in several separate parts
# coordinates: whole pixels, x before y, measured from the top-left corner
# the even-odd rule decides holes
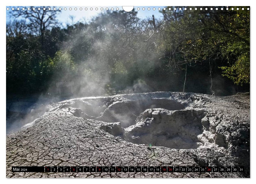
[[[6,136],[6,177],[250,177],[250,95],[154,92],[51,104]],[[244,166],[244,173],[35,173],[11,166]]]

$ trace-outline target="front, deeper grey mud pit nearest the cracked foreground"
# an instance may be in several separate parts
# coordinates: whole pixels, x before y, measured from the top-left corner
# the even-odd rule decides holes
[[[164,146],[173,149],[196,149],[202,143],[202,110],[149,109],[138,118],[136,125],[124,129],[124,140],[135,144]]]

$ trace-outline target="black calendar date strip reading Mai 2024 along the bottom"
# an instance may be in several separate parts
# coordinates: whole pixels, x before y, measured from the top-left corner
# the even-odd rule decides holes
[[[244,172],[244,166],[12,166],[12,172]]]

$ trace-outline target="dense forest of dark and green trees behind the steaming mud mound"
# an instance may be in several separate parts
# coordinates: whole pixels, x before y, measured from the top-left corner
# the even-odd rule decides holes
[[[199,8],[166,7],[162,18],[144,19],[109,10],[65,26],[48,7],[10,11],[7,95],[54,95],[56,83],[70,81],[73,96],[249,91],[250,11]]]

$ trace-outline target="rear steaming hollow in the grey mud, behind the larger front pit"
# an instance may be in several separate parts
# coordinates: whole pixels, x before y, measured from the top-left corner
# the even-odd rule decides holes
[[[166,110],[181,110],[186,104],[181,104],[170,99],[148,98],[129,101],[112,101],[110,99],[80,99],[64,104],[61,108],[79,108],[85,118],[104,122],[120,122],[126,128],[136,123],[136,118],[146,109],[162,108]]]

